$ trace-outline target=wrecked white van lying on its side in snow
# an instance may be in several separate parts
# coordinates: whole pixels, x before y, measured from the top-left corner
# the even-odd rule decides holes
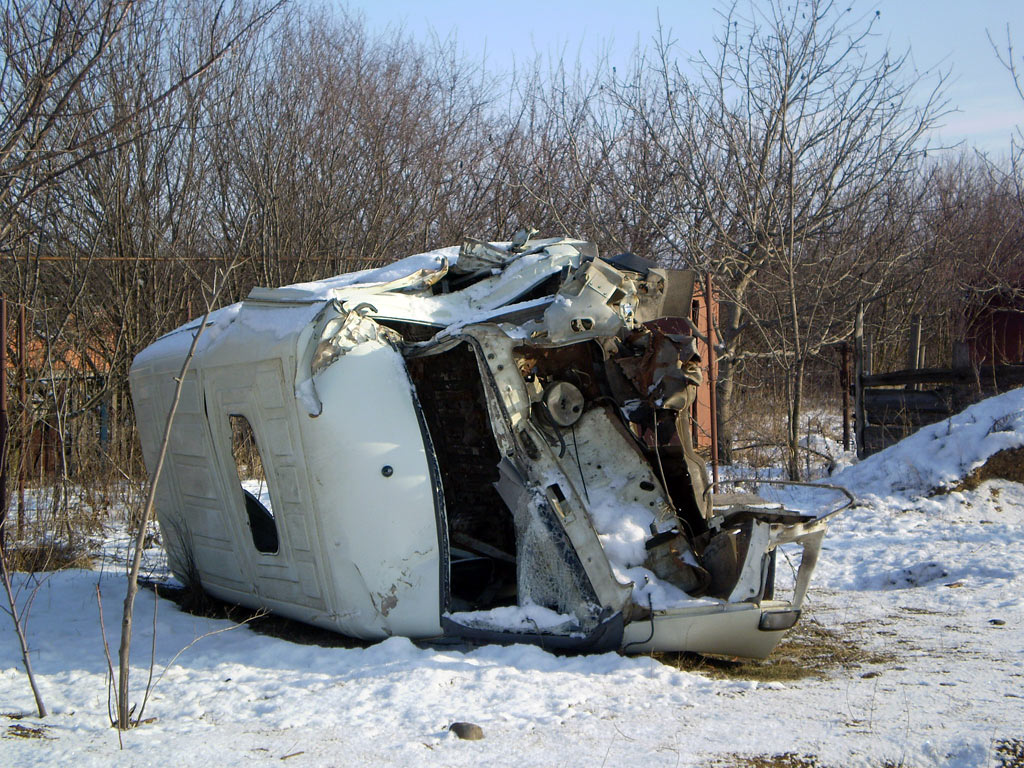
[[[467,241],[167,334],[131,389],[152,472],[202,330],[157,495],[171,568],[366,639],[766,656],[827,521],[710,493],[696,347],[663,322],[692,291],[581,241]]]

